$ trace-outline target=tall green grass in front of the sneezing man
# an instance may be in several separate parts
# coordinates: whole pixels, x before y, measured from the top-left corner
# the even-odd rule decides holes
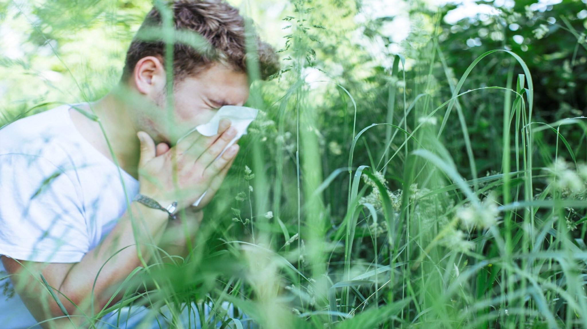
[[[585,131],[583,118],[534,121],[531,72],[507,50],[484,53],[453,81],[437,29],[410,36],[423,44],[409,57],[415,64],[408,71],[406,58],[394,57],[382,73],[387,106],[372,108],[356,101],[361,90],[306,81],[314,36],[326,32],[307,2],[289,6],[288,61],[278,79],[252,84],[249,105],[264,113],[242,140],[190,255],[135,270],[122,301],[88,314],[90,322],[146,303],[145,323],[165,306],[174,327],[193,325],[179,320],[192,307],[203,327],[224,319],[222,328],[587,327],[587,218],[579,215],[587,171],[576,141],[559,129]],[[468,83],[488,60],[504,58],[512,63],[505,85]],[[249,76],[258,77],[254,63]],[[450,92],[438,92],[443,83]],[[487,176],[469,131],[472,94],[499,98],[488,119],[501,159],[490,159],[498,166]],[[341,123],[336,133],[331,124]],[[556,136],[555,154],[545,134]],[[343,141],[342,155],[331,140]],[[461,141],[466,161],[456,162],[451,150]],[[156,288],[134,292],[144,281]],[[229,318],[225,302],[240,314]]]

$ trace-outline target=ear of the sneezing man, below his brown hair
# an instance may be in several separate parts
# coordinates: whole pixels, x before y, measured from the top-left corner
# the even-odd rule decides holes
[[[166,73],[161,60],[155,56],[143,57],[134,66],[133,80],[141,94],[156,97],[165,89]]]

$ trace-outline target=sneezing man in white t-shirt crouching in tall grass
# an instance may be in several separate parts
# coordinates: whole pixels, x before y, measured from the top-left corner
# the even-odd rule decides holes
[[[176,35],[205,39],[199,50],[174,44],[173,81],[160,41],[169,35],[165,11],[153,8],[109,95],[0,130],[0,271],[10,277],[0,281],[1,328],[75,326],[116,302],[123,280],[153,256],[147,244],[167,248],[163,235],[183,237],[173,220],[183,210],[196,227],[230,169],[238,145],[217,159],[236,134],[227,120],[215,136],[178,140],[222,105],[247,100],[246,39],[257,45],[262,77],[277,70],[275,52],[257,36],[245,38],[244,19],[220,0],[175,1],[170,9]],[[182,253],[185,244],[178,238],[167,251]]]

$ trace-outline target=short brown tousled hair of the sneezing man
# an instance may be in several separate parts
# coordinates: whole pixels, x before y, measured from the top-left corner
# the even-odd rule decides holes
[[[236,71],[247,73],[247,43],[257,46],[259,73],[265,80],[279,70],[275,50],[249,30],[245,33],[245,19],[238,9],[221,0],[176,0],[170,3],[173,27],[177,32],[197,33],[207,43],[196,50],[181,42],[173,46],[174,82],[195,76],[214,63],[222,63]],[[147,56],[163,60],[166,44],[163,42],[163,23],[157,8],[147,14],[139,32],[126,54],[123,79],[130,77],[137,62]],[[153,32],[158,36],[153,37]],[[176,33],[176,35],[178,35]],[[145,37],[146,36],[146,37]],[[248,38],[252,38],[247,40]],[[197,38],[188,38],[197,40]]]

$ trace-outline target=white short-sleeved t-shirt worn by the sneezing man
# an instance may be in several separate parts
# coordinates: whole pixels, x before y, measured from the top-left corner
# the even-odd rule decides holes
[[[63,105],[0,129],[0,255],[79,262],[139,191],[134,177],[77,131],[69,109]],[[1,327],[36,323],[0,262]]]

